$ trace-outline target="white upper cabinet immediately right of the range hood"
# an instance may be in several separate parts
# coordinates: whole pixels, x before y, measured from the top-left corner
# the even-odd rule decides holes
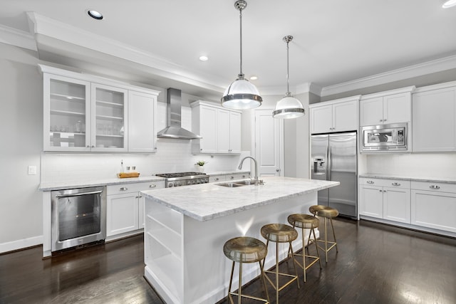
[[[192,152],[209,154],[241,153],[242,114],[213,103],[195,101],[192,107],[192,132],[201,140],[192,140]]]

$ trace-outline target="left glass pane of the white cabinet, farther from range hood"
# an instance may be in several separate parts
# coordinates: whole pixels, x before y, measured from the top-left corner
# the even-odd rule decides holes
[[[86,85],[50,80],[51,147],[86,146]]]

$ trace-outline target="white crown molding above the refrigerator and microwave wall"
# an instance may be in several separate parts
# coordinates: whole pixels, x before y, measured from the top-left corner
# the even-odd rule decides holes
[[[328,85],[321,89],[321,97],[369,88],[375,85],[383,85],[385,83],[392,83],[393,81],[437,73],[452,68],[456,68],[456,55],[410,65],[405,68],[398,68],[397,70],[390,70],[385,73],[375,74],[365,78],[339,83],[337,85]]]

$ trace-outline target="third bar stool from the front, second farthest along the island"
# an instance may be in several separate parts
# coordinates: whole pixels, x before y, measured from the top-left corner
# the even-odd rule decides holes
[[[314,265],[317,261],[320,263],[320,269],[321,269],[321,261],[320,261],[320,254],[318,253],[318,246],[316,244],[316,236],[315,236],[315,230],[318,228],[318,225],[320,224],[320,221],[315,217],[311,216],[309,214],[290,214],[288,216],[288,222],[290,223],[291,226],[293,227],[298,227],[301,228],[301,235],[302,235],[302,254],[299,253],[294,253],[295,256],[302,256],[302,265],[299,263],[299,261],[296,261],[299,266],[304,271],[304,282],[306,282],[306,270],[309,269],[312,265]],[[311,239],[311,234],[314,234],[314,244],[316,248],[316,256],[311,256],[308,252],[306,255],[306,245],[304,242],[304,229],[310,229],[309,231],[309,241]],[[307,244],[309,245],[309,241]],[[307,248],[309,251],[309,247]],[[306,266],[306,258],[312,258],[313,261],[309,265]]]

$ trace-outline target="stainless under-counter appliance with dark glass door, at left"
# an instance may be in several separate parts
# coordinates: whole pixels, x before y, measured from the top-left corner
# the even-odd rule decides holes
[[[80,246],[106,237],[103,187],[51,192],[51,251]]]

